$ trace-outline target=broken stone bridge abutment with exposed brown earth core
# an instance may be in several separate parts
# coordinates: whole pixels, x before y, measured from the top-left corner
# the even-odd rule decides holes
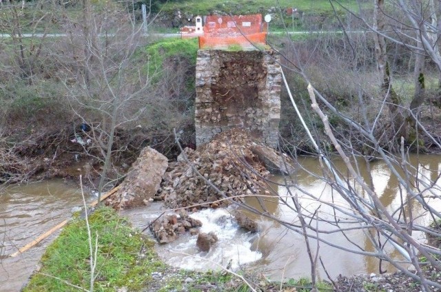
[[[199,50],[196,61],[196,146],[232,127],[278,146],[279,56],[272,52]]]

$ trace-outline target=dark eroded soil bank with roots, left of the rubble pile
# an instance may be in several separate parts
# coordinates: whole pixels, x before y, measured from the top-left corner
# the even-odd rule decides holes
[[[83,140],[87,140],[87,134],[90,134],[82,132],[79,125],[81,123],[77,121],[69,125],[11,127],[12,130],[0,136],[0,184],[55,177],[79,183],[79,176],[82,175],[85,185],[96,187],[102,170],[102,154],[93,143],[81,145],[72,142],[75,134],[79,134]],[[7,137],[7,140],[2,140],[2,137]],[[155,145],[152,140],[161,143]],[[167,154],[168,158],[176,157],[172,137],[167,140],[161,140],[161,137],[152,138],[151,133],[138,127],[116,129],[112,149],[115,155],[108,176],[116,178],[125,174],[141,149],[149,144],[154,145],[159,152]],[[8,154],[4,155],[3,152]]]

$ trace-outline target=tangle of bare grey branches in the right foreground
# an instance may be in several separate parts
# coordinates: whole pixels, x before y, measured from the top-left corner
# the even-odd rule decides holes
[[[330,1],[331,2],[331,1]],[[338,2],[338,1],[334,1]],[[297,50],[296,43],[289,43],[291,50],[294,52],[291,56],[285,55],[284,70],[285,72],[294,72],[289,74],[297,74],[301,76],[306,83],[309,83],[309,97],[312,109],[320,118],[321,124],[327,141],[331,143],[332,148],[338,152],[338,156],[345,163],[345,169],[337,169],[331,158],[327,154],[327,149],[322,143],[318,142],[317,129],[311,127],[308,123],[302,123],[302,127],[307,133],[310,143],[314,145],[315,151],[320,158],[322,165],[322,176],[320,180],[327,183],[339,198],[344,200],[344,204],[338,200],[322,200],[316,194],[309,194],[296,183],[289,185],[297,190],[298,194],[289,194],[292,200],[296,196],[309,198],[314,202],[327,205],[334,211],[334,216],[327,216],[319,211],[311,211],[306,207],[298,209],[298,206],[291,204],[291,209],[296,209],[300,220],[297,224],[293,224],[288,220],[280,221],[288,229],[308,236],[309,238],[318,240],[319,242],[329,244],[333,247],[346,250],[351,253],[359,253],[379,258],[382,261],[391,263],[396,269],[409,275],[409,277],[420,281],[424,291],[431,291],[431,286],[440,288],[441,285],[436,281],[427,279],[420,262],[420,256],[429,262],[433,269],[441,269],[438,260],[441,255],[439,247],[422,244],[412,237],[416,231],[424,231],[432,236],[441,236],[440,229],[433,229],[429,226],[423,226],[418,223],[413,207],[418,205],[424,210],[425,214],[433,219],[433,222],[440,220],[440,210],[436,209],[433,202],[441,200],[441,190],[438,187],[439,176],[428,177],[420,171],[420,166],[413,165],[409,161],[409,125],[413,130],[414,137],[418,139],[418,135],[424,134],[431,143],[436,145],[438,149],[441,145],[438,140],[427,131],[418,118],[418,112],[424,102],[424,56],[429,56],[435,70],[439,73],[438,59],[438,39],[433,36],[439,35],[437,23],[438,8],[435,8],[433,1],[387,1],[376,0],[371,2],[372,17],[367,18],[363,14],[351,12],[361,19],[373,36],[375,44],[376,56],[373,61],[376,62],[376,70],[378,80],[380,80],[380,98],[376,98],[378,106],[376,112],[367,110],[366,90],[360,87],[358,94],[358,105],[360,106],[360,116],[356,116],[350,112],[343,112],[332,101],[331,96],[322,94],[318,87],[322,87],[320,83],[316,83],[314,77],[311,76],[311,59],[302,60],[300,51]],[[438,4],[438,3],[437,3]],[[341,4],[343,6],[343,4]],[[396,12],[400,12],[406,19],[400,19]],[[386,22],[386,19],[388,22]],[[389,30],[387,28],[389,28]],[[402,28],[398,30],[398,28]],[[405,29],[404,29],[405,28]],[[373,32],[373,33],[372,33]],[[352,47],[355,46],[355,34],[346,34],[347,41]],[[396,94],[391,86],[391,67],[388,61],[387,43],[396,43],[402,45],[407,50],[411,50],[416,54],[416,62],[414,67],[414,76],[416,82],[416,92],[411,103],[404,104],[400,100],[400,96]],[[429,48],[430,47],[430,48]],[[320,50],[320,46],[316,46],[316,50]],[[347,69],[345,69],[347,70]],[[329,77],[328,77],[329,78]],[[287,92],[291,98],[291,102],[296,107],[298,118],[302,120],[302,112],[299,110],[301,104],[298,105],[298,98],[291,95],[291,86],[287,83],[285,77],[285,85]],[[351,81],[347,81],[351,82]],[[316,86],[314,86],[314,84]],[[360,84],[361,85],[361,84]],[[369,96],[369,98],[374,98]],[[389,113],[387,113],[387,111]],[[369,113],[369,114],[368,114]],[[396,136],[395,147],[381,143],[384,136],[384,128],[378,131],[378,123],[384,114],[387,113],[392,117],[393,134]],[[338,128],[333,127],[329,122],[329,116],[338,116],[339,121],[345,125],[346,134],[338,132]],[[409,119],[413,123],[409,123]],[[341,129],[341,127],[339,128]],[[373,187],[372,178],[362,175],[362,165],[358,158],[364,157],[367,173],[371,169],[371,161],[367,156],[363,156],[359,147],[353,147],[354,138],[360,139],[365,146],[369,147],[376,156],[380,158],[387,169],[391,172],[391,176],[398,180],[398,186],[402,191],[401,204],[396,209],[390,209],[390,206],[384,205],[379,200],[380,196]],[[321,139],[323,139],[321,137]],[[295,156],[294,156],[295,158]],[[317,174],[315,174],[317,176]],[[286,200],[279,199],[283,204],[287,204]],[[248,206],[250,207],[250,206]],[[257,211],[257,210],[254,210]],[[264,213],[268,216],[267,213]],[[338,217],[338,220],[337,220]],[[343,219],[345,218],[345,219]],[[334,231],[317,228],[314,222],[327,222],[334,226]],[[307,231],[305,231],[307,229]],[[334,242],[325,240],[321,235],[329,232],[345,232],[353,229],[365,231],[369,240],[373,244],[374,250],[368,251],[360,247],[356,242],[352,242],[347,238],[348,242],[353,244],[353,249],[341,247]],[[405,259],[404,264],[392,258],[384,249],[385,243],[391,244]],[[308,248],[311,251],[311,248]],[[416,273],[411,273],[407,269],[407,264],[412,264],[416,269]],[[311,260],[311,266],[314,263]],[[381,269],[380,269],[381,271]]]

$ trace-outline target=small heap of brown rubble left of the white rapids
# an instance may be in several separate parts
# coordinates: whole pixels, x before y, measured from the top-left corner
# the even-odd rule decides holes
[[[181,213],[181,216],[172,214],[159,218],[153,222],[150,229],[159,243],[169,243],[176,240],[185,231],[191,231],[201,226],[201,221],[188,217],[186,213]]]

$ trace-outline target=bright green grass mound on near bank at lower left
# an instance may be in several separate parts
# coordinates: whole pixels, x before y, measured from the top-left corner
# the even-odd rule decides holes
[[[152,281],[152,271],[161,271],[153,242],[134,231],[127,221],[107,207],[89,218],[93,241],[98,237],[98,261],[94,291],[141,291]],[[88,232],[85,220],[74,219],[45,251],[42,268],[23,291],[78,291],[68,282],[89,289]],[[47,275],[52,275],[52,278]]]

